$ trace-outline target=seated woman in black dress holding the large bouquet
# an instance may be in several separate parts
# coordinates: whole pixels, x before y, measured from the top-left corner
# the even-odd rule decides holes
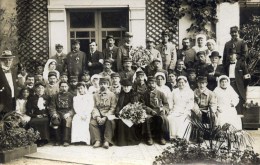
[[[122,89],[119,94],[119,100],[116,106],[115,115],[118,117],[120,111],[128,103],[134,103],[138,101],[137,94],[132,90],[132,82],[130,80],[121,81]],[[116,120],[116,130],[114,141],[118,146],[138,145],[140,138],[138,135],[141,134],[141,125],[133,125],[128,127],[122,120]]]

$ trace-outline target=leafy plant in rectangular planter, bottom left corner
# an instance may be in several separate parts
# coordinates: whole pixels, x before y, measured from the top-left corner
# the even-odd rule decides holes
[[[39,132],[32,128],[26,130],[19,124],[20,116],[15,112],[0,115],[0,163],[37,151],[34,142],[40,138]]]

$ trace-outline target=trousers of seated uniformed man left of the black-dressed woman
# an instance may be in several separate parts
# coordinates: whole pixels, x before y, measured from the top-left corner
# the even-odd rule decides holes
[[[89,123],[91,143],[94,144],[96,141],[107,141],[110,144],[114,144],[112,141],[114,130],[114,121],[106,120],[105,124],[100,126],[97,120],[91,119]]]

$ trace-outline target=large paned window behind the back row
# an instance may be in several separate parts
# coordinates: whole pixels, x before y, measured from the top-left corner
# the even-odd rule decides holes
[[[95,41],[98,50],[106,47],[106,36],[113,35],[119,45],[129,29],[128,9],[69,10],[69,39],[78,39],[80,49],[89,52],[89,43]],[[70,42],[71,43],[71,42]]]

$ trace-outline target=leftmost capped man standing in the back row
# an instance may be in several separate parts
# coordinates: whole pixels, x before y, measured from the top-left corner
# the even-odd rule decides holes
[[[56,63],[56,70],[59,71],[59,73],[62,73],[65,66],[65,58],[67,54],[63,53],[63,46],[61,44],[55,45],[56,54],[51,58],[54,59]]]

